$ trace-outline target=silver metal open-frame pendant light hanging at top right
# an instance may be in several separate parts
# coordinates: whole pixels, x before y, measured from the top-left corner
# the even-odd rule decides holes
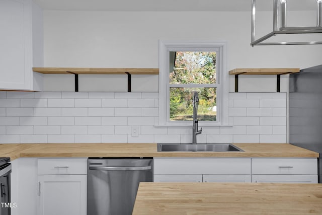
[[[290,0],[291,1],[291,0]],[[314,0],[311,0],[314,1]],[[322,41],[306,42],[265,42],[272,36],[279,34],[316,34],[321,33],[322,38],[322,0],[315,0],[317,3],[316,26],[313,27],[287,27],[286,26],[286,0],[273,0],[273,31],[255,40],[256,21],[256,0],[252,0],[252,40],[251,45],[301,45],[301,44],[322,44]],[[280,20],[279,20],[279,19]],[[279,23],[280,21],[280,23]]]

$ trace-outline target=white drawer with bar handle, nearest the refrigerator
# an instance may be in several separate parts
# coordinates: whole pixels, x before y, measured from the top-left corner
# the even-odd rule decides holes
[[[317,159],[253,158],[253,174],[317,175]]]

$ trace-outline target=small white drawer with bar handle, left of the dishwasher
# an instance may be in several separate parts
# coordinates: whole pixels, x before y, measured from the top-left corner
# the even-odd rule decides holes
[[[87,174],[86,158],[38,159],[38,175]]]

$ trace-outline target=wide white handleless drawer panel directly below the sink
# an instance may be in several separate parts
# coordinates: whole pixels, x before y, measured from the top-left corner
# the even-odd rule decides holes
[[[154,174],[251,174],[250,158],[154,158]]]

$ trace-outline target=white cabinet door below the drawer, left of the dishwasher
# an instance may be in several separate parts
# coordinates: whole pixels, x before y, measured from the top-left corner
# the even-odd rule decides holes
[[[86,175],[39,175],[38,215],[86,215]]]

